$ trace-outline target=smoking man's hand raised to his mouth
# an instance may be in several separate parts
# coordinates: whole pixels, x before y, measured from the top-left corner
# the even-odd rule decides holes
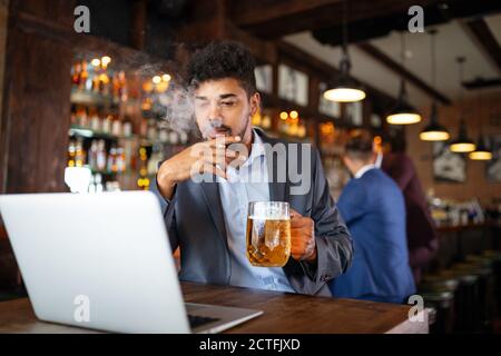
[[[157,172],[160,194],[171,199],[176,185],[189,179],[194,172],[208,172],[226,179],[226,159],[237,156],[234,150],[226,149],[226,146],[239,141],[238,136],[216,138],[197,142],[173,156],[161,164]]]

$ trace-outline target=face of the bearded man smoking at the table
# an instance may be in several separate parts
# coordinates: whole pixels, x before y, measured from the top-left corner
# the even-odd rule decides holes
[[[248,98],[234,78],[207,80],[195,90],[195,117],[206,140],[219,135],[244,138],[258,106],[259,95]]]

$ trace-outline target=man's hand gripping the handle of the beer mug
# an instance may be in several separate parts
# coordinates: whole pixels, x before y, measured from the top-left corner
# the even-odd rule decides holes
[[[291,209],[291,255],[297,260],[316,260],[315,222]]]

